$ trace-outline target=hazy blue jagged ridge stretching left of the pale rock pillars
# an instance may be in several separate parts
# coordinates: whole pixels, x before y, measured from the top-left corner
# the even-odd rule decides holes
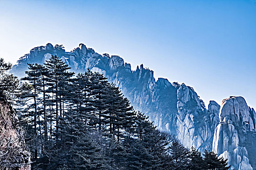
[[[43,64],[51,55],[57,55],[76,73],[90,69],[104,74],[108,81],[122,90],[136,110],[145,112],[160,130],[174,133],[177,87],[172,86],[167,79],[159,78],[155,81],[153,71],[143,65],[131,70],[130,64],[117,55],[100,55],[93,49],[86,48],[84,44],[66,52],[62,46],[53,47],[48,43],[21,57],[11,72],[23,77],[27,63]]]

